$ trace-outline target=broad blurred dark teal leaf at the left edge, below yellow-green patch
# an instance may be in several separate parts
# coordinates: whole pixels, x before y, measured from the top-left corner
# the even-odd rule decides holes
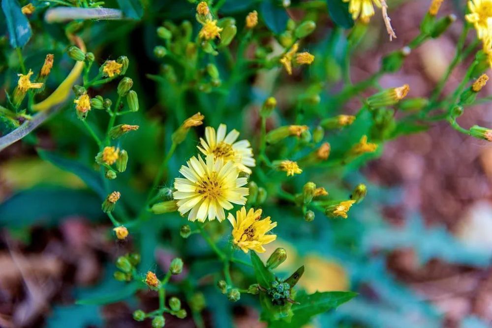
[[[102,214],[100,199],[90,191],[37,187],[21,191],[0,205],[0,226],[15,228],[40,222],[55,224],[69,215],[95,219]]]

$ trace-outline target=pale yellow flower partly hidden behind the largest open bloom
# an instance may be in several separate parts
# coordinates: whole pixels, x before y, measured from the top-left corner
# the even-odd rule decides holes
[[[249,167],[254,167],[253,150],[247,140],[236,141],[239,137],[237,130],[232,130],[226,135],[227,126],[220,124],[215,133],[213,127],[205,128],[205,140],[200,138],[201,147],[198,149],[204,154],[214,155],[215,159],[222,158],[224,162],[232,161],[236,167],[247,174],[251,174]]]

